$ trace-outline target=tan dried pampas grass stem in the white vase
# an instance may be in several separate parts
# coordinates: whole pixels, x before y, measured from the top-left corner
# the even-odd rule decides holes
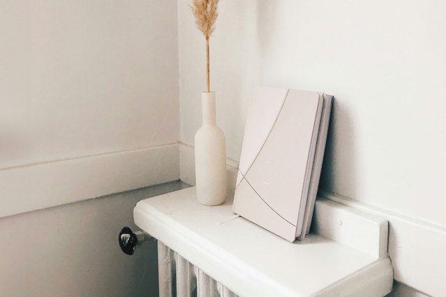
[[[210,91],[209,39],[215,30],[215,21],[218,16],[217,4],[218,0],[193,0],[192,5],[192,13],[194,13],[198,29],[206,39],[206,83],[208,92]]]

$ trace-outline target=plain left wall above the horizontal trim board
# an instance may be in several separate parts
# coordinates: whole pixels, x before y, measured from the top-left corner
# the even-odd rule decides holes
[[[176,1],[0,11],[0,168],[177,141]]]

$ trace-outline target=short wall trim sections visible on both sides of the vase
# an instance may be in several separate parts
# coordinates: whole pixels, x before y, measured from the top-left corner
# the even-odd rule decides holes
[[[228,193],[236,190],[238,161],[226,158],[228,178]],[[195,156],[194,146],[180,142],[180,180],[189,185],[195,185]]]

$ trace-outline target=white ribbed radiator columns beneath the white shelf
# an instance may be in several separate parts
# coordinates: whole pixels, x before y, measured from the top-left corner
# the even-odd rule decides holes
[[[236,297],[222,284],[158,241],[160,297]]]

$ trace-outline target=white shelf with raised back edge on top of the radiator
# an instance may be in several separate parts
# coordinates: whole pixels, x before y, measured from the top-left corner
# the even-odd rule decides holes
[[[385,296],[387,221],[316,202],[318,234],[290,243],[244,218],[229,197],[202,206],[195,188],[139,201],[134,222],[238,296]],[[351,246],[349,246],[350,244]]]

